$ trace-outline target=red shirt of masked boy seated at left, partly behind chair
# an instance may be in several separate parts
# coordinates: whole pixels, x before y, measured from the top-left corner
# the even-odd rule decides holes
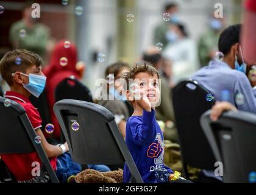
[[[29,99],[13,91],[7,91],[5,93],[5,98],[12,99],[13,101],[23,106],[34,130],[37,130],[41,127],[40,114],[38,113],[37,108],[35,108],[34,105],[30,103]],[[2,154],[1,158],[5,165],[8,167],[9,171],[12,172],[18,181],[24,181],[33,178],[31,172],[34,167],[31,165],[34,161],[38,161],[38,163],[41,165],[41,160],[37,155],[37,152],[28,154]],[[49,161],[52,165],[52,168],[56,170],[57,158],[50,158]]]

